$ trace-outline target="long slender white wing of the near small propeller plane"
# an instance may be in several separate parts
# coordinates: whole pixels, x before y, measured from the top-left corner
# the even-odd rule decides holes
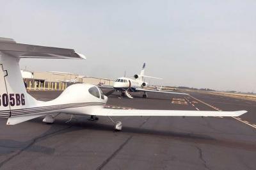
[[[99,109],[97,116],[241,116],[247,111],[175,111],[143,109]],[[94,113],[93,113],[94,114]]]

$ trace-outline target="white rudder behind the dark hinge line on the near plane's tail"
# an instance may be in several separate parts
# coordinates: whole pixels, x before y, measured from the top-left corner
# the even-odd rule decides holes
[[[6,86],[5,77],[8,76],[7,70],[4,70],[3,64],[0,63],[0,117],[11,116],[11,108],[9,104],[9,95]]]

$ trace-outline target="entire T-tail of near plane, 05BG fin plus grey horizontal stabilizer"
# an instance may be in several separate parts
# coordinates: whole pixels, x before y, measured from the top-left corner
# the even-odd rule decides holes
[[[38,101],[26,92],[20,58],[85,59],[72,49],[27,45],[0,38],[0,117],[18,116],[24,109],[38,105]]]

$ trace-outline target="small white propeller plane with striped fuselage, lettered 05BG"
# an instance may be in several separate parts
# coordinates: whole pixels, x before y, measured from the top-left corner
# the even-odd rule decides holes
[[[44,47],[16,43],[0,38],[0,117],[8,117],[6,125],[15,125],[44,116],[45,123],[53,123],[58,114],[91,116],[241,116],[246,111],[174,111],[143,109],[105,109],[108,97],[92,84],[73,84],[49,102],[42,102],[26,92],[20,73],[20,58],[85,59],[72,49]],[[71,120],[70,118],[70,120]],[[120,121],[113,121],[115,130],[122,129]]]

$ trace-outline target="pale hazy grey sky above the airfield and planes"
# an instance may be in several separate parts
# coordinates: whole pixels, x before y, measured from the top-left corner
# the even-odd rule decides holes
[[[0,36],[75,49],[86,61],[22,59],[31,71],[256,92],[256,1],[0,0]]]

